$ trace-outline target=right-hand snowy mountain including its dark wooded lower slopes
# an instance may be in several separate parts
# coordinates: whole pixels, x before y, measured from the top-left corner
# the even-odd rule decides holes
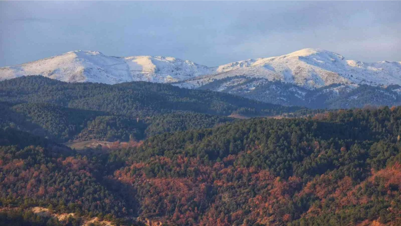
[[[363,63],[320,49],[239,61],[174,85],[312,108],[401,103],[401,62]]]

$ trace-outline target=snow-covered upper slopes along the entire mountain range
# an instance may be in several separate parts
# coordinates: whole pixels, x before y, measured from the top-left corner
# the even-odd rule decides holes
[[[245,76],[242,82],[251,78],[278,80],[314,89],[336,83],[401,85],[401,62],[364,63],[326,50],[302,49],[278,57],[207,67],[172,57],[111,57],[100,52],[72,51],[0,68],[0,80],[23,75],[43,75],[67,82],[108,84],[126,81],[173,82],[186,88],[199,88],[216,80]],[[226,86],[238,86],[241,81],[233,80],[216,90],[224,91]]]

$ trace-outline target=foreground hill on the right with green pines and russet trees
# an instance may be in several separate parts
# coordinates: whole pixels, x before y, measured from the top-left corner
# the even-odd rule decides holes
[[[401,107],[251,119],[117,151],[114,176],[168,225],[400,225],[400,132]]]

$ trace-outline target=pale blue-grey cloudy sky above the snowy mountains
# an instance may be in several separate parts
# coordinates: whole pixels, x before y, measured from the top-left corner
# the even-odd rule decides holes
[[[73,50],[207,66],[321,48],[401,61],[399,0],[0,0],[0,67]]]

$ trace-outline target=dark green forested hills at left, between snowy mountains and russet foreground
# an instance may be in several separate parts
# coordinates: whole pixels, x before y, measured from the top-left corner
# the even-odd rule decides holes
[[[0,126],[58,142],[142,140],[164,132],[210,128],[228,116],[303,110],[168,84],[67,83],[42,76],[0,82]]]

